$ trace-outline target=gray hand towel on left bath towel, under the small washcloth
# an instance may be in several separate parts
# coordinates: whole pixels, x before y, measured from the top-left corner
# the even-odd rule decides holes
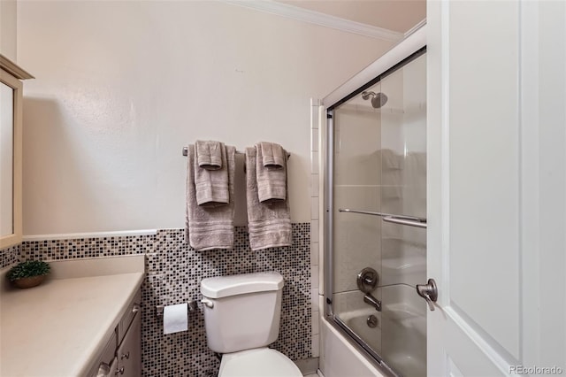
[[[222,168],[218,170],[203,169],[198,163],[198,152],[195,148],[196,204],[205,207],[218,207],[230,202],[226,146],[223,142],[219,144]]]

